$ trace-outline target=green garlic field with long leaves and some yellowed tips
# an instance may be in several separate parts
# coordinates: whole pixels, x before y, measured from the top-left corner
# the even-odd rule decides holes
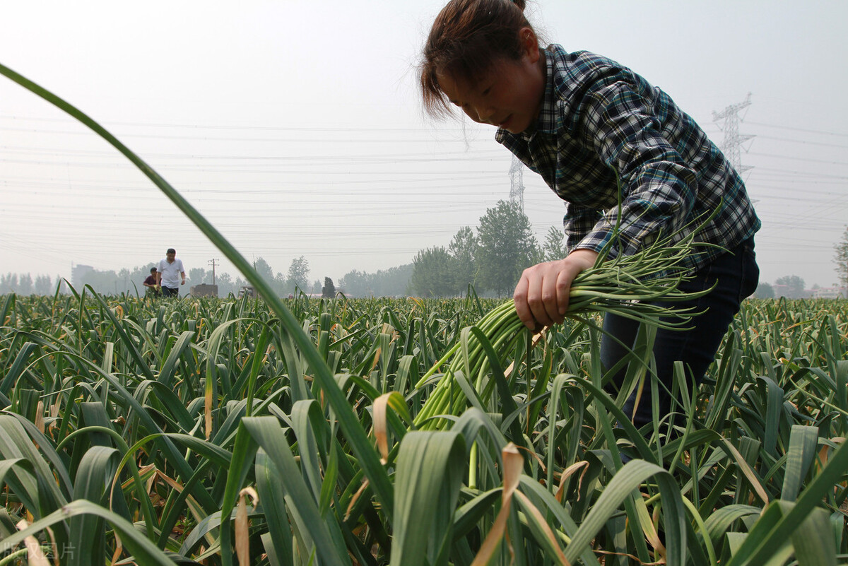
[[[501,305],[0,297],[0,564],[848,563],[848,302],[746,301],[650,430],[644,348]]]

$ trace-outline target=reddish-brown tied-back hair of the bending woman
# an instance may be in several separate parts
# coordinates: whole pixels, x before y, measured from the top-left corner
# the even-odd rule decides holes
[[[432,23],[422,53],[421,94],[432,116],[450,114],[438,73],[476,80],[495,59],[522,58],[518,32],[533,26],[524,0],[450,0]]]

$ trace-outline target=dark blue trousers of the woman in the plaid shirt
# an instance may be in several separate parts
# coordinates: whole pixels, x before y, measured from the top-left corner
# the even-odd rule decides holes
[[[656,377],[659,380],[657,388],[660,414],[657,416],[660,420],[672,410],[670,391],[674,363],[683,362],[687,383],[694,383],[693,387],[700,383],[706,369],[716,357],[728,326],[739,312],[740,303],[756,291],[759,276],[760,268],[756,264],[754,254],[754,238],[751,237],[723,253],[711,264],[697,271],[691,280],[683,281],[679,286],[682,291],[694,292],[703,291],[715,284],[716,287],[709,294],[689,302],[666,303],[669,307],[694,307],[695,312],[704,312],[691,319],[688,325],[692,326],[691,330],[657,330],[653,353],[656,360]],[[607,314],[604,330],[616,336],[623,344],[633,345],[639,322]],[[601,339],[600,359],[604,368],[611,368],[627,353],[628,350],[609,336]],[[622,385],[626,372],[627,367],[616,373],[612,379],[614,387]],[[684,393],[689,394],[687,391]],[[650,423],[653,416],[650,380],[645,381],[638,405],[636,397],[637,391],[633,391],[622,410],[628,417],[632,416],[633,424],[637,428],[641,428]]]

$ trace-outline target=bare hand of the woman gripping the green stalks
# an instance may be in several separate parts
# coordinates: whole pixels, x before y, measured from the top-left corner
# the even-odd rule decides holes
[[[524,269],[512,296],[518,318],[530,330],[565,320],[572,281],[578,273],[592,267],[596,258],[598,252],[577,249],[565,259]]]

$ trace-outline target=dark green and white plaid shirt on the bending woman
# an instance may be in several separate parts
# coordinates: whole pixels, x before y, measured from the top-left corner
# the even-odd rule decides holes
[[[733,166],[665,92],[592,53],[551,45],[544,55],[535,130],[499,129],[495,139],[566,201],[569,251],[600,251],[612,239],[619,192],[622,222],[610,257],[633,253],[660,234],[680,240],[713,212],[696,241],[731,249],[760,229]],[[699,249],[685,267],[700,269],[722,253]]]

